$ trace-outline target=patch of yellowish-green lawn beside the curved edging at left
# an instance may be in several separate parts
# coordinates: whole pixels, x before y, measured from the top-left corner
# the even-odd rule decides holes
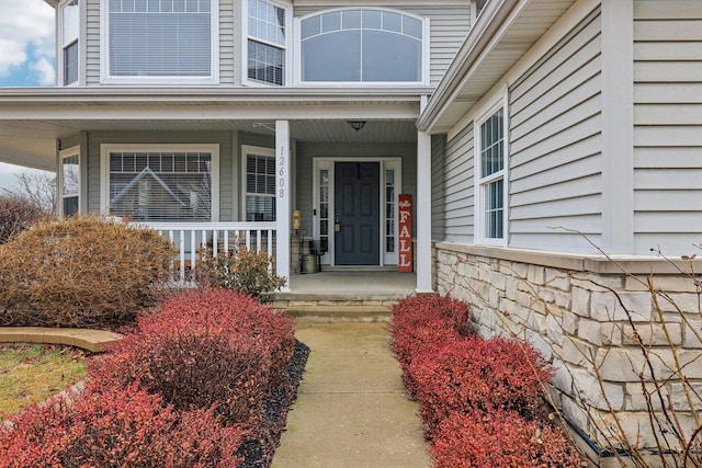
[[[84,353],[50,345],[0,346],[0,421],[86,375]]]

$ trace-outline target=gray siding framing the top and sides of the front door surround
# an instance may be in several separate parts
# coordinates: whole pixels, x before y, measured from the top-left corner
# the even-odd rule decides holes
[[[296,199],[293,209],[303,212],[303,229],[312,233],[314,158],[400,158],[403,163],[403,190],[417,197],[417,146],[414,144],[336,144],[298,142],[296,146]],[[416,220],[416,217],[415,219]],[[416,226],[415,226],[416,229]],[[415,230],[416,232],[416,230]]]

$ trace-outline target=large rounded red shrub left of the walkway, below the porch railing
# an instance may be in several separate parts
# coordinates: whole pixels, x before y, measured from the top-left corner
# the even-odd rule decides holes
[[[185,292],[143,313],[89,375],[122,387],[139,379],[180,410],[216,403],[228,424],[254,427],[294,352],[293,324],[234,290]]]

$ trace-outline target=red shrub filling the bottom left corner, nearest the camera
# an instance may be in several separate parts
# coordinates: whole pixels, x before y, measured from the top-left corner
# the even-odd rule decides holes
[[[132,385],[33,404],[0,427],[0,468],[237,467],[244,432],[211,410],[178,413]]]

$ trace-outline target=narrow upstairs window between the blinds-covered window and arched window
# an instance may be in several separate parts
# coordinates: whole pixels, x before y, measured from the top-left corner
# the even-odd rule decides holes
[[[247,78],[262,83],[285,83],[287,11],[268,0],[247,3]]]

